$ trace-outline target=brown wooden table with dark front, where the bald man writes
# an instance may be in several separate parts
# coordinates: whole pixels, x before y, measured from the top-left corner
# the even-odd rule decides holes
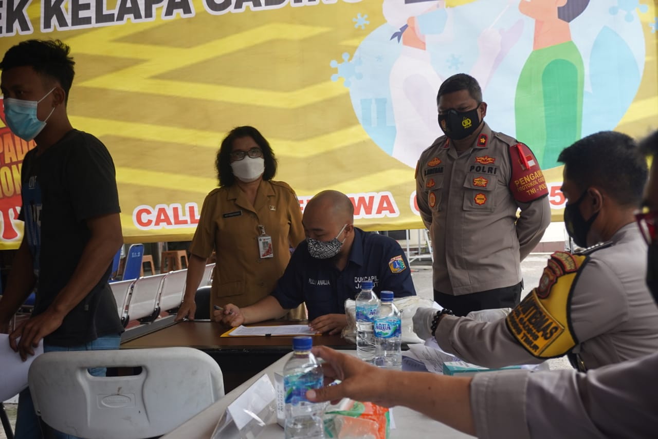
[[[253,326],[306,324],[267,321]],[[247,325],[249,326],[249,325]],[[213,321],[180,321],[121,344],[122,349],[188,346],[202,350],[222,368],[224,388],[230,392],[292,350],[292,336],[222,337],[230,327]],[[340,335],[313,336],[313,344],[355,349]]]

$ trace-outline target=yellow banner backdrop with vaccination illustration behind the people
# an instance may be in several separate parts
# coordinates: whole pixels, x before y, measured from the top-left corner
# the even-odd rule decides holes
[[[68,112],[113,155],[128,243],[191,239],[218,145],[239,125],[270,141],[275,179],[302,208],[337,189],[360,227],[422,227],[413,168],[441,134],[438,86],[457,72],[480,81],[490,126],[534,150],[560,220],[563,147],[655,128],[657,18],[655,2],[541,3],[5,0],[0,51],[30,38],[71,46]],[[0,248],[16,248],[20,163],[34,144],[7,127],[0,140]]]

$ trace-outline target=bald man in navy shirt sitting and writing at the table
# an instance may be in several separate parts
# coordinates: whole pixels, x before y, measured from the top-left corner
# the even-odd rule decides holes
[[[415,296],[409,262],[393,239],[367,233],[353,225],[354,206],[343,193],[322,191],[306,206],[306,233],[284,275],[270,296],[238,308],[228,304],[215,319],[232,326],[276,319],[302,302],[310,326],[318,333],[336,334],[347,325],[345,300],[354,299],[362,281],[374,292],[393,291],[395,297]]]

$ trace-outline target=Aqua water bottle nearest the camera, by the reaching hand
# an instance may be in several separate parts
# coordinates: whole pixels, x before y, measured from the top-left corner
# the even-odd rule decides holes
[[[324,404],[306,399],[306,391],[322,387],[324,381],[322,367],[311,354],[311,346],[310,336],[293,338],[295,352],[284,366],[286,439],[324,438]]]

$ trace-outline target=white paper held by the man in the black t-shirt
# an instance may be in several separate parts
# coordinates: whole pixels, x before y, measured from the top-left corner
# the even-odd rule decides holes
[[[19,338],[20,340],[20,338]],[[0,402],[7,401],[28,386],[28,370],[34,359],[43,354],[43,340],[26,361],[9,346],[9,334],[0,334]]]

